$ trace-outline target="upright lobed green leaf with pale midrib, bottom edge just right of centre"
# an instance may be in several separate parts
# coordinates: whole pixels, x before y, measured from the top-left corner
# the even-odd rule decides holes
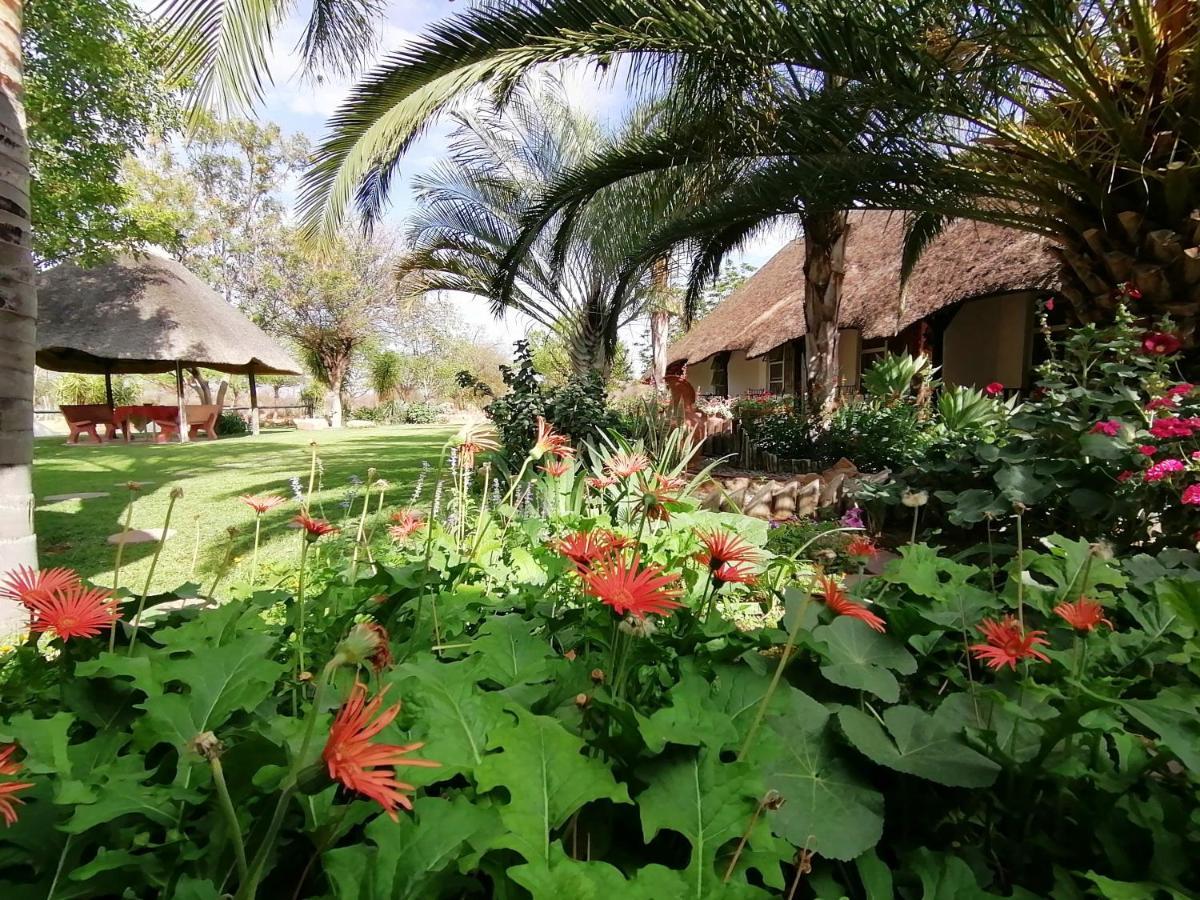
[[[691,844],[684,869],[686,890],[676,896],[709,896],[721,880],[716,853],[750,824],[761,796],[760,779],[745,763],[722,763],[713,750],[689,750],[641,774],[649,784],[637,797],[646,841],[666,828]]]

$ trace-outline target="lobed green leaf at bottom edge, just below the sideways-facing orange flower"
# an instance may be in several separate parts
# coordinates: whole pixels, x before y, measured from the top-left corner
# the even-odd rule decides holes
[[[472,865],[473,848],[490,844],[502,833],[496,810],[454,799],[418,797],[413,814],[392,822],[377,816],[366,827],[366,839],[328,851],[322,860],[334,886],[334,895],[347,900],[418,900],[438,896],[438,886],[449,870]]]

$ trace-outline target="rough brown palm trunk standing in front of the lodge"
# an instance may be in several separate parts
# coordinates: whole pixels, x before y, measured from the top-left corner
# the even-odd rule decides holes
[[[804,348],[810,408],[817,412],[838,400],[838,316],[848,234],[845,210],[804,217]]]

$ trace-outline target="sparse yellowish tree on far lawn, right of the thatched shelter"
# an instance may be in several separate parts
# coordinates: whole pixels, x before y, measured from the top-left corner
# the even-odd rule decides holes
[[[335,428],[342,425],[352,366],[392,313],[395,264],[385,238],[346,234],[336,246],[314,250],[289,232],[250,306],[264,329],[299,348],[326,389]]]

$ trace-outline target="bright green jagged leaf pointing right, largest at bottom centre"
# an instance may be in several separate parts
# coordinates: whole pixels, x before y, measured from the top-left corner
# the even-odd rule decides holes
[[[500,818],[509,834],[498,846],[510,847],[528,862],[550,863],[552,833],[592,800],[629,803],[629,792],[608,767],[583,755],[583,742],[557,719],[511,710],[516,721],[492,731],[488,750],[475,769],[480,791],[503,787],[509,803]]]

